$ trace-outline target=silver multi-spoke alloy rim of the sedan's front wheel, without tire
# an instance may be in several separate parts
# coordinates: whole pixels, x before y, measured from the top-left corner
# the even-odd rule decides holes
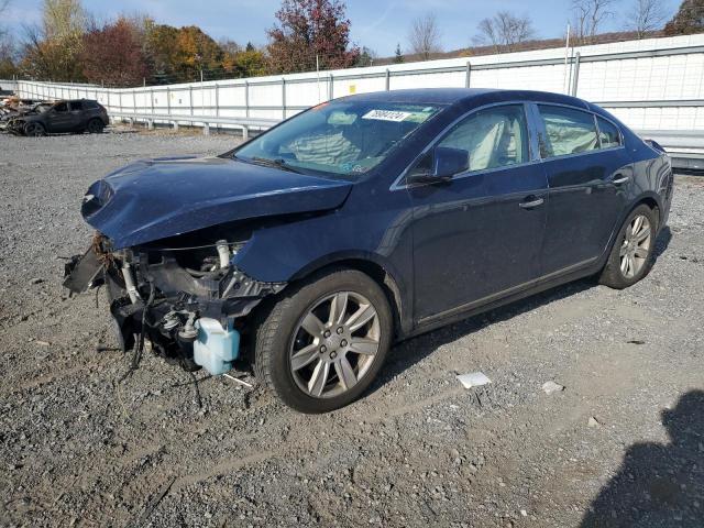
[[[338,292],[309,308],[297,324],[289,365],[308,396],[330,398],[354,387],[380,348],[380,318],[372,302],[354,292]]]

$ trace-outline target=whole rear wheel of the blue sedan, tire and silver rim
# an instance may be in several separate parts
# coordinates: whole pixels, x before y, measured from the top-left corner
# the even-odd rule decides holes
[[[606,265],[602,270],[600,284],[623,289],[648,275],[652,267],[657,229],[656,212],[645,204],[636,207],[618,231]],[[628,262],[628,258],[631,261]]]

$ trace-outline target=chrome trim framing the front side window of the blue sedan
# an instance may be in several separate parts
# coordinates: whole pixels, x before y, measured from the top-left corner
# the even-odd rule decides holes
[[[529,105],[530,105],[530,101],[525,101],[525,100],[490,102],[487,105],[483,105],[481,107],[473,108],[472,110],[464,112],[462,116],[460,116],[450,124],[448,124],[444,129],[442,129],[442,131],[438,135],[436,135],[436,138],[428,145],[426,145],[426,147],[422,151],[420,151],[420,154],[414,157],[414,160],[406,166],[406,168],[400,173],[400,175],[394,180],[394,183],[388,188],[388,190],[394,191],[394,190],[402,190],[402,189],[409,189],[409,188],[415,189],[417,187],[426,187],[428,185],[435,185],[432,183],[408,185],[402,182],[406,179],[408,172],[416,165],[416,163],[418,163],[422,158],[422,156],[425,156],[431,148],[433,148],[440,141],[442,141],[448,134],[448,132],[450,132],[450,130],[455,124],[469,118],[472,113],[486,110],[488,108],[494,108],[494,107],[509,107],[509,106],[524,107],[524,116],[526,118],[526,132],[528,133],[528,161],[522,163],[516,163],[514,165],[504,165],[502,167],[484,168],[481,170],[466,170],[464,173],[458,173],[455,176],[452,176],[452,180],[475,176],[477,174],[495,173],[497,170],[506,170],[508,168],[525,167],[528,165],[535,165],[537,163],[540,163],[541,162],[540,153],[535,151],[535,144],[532,141],[532,136],[535,134],[532,134],[532,123],[531,123]]]

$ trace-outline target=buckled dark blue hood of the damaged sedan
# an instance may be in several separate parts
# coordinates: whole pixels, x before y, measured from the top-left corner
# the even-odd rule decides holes
[[[351,187],[231,158],[157,158],[92,184],[81,213],[121,249],[235,220],[334,209]]]

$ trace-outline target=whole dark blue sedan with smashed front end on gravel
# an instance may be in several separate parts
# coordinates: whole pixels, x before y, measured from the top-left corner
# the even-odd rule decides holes
[[[603,109],[427,89],[314,107],[217,157],[95,183],[65,285],[105,284],[124,350],[213,375],[235,361],[290,407],[358,398],[395,341],[594,275],[652,265],[669,157]]]

